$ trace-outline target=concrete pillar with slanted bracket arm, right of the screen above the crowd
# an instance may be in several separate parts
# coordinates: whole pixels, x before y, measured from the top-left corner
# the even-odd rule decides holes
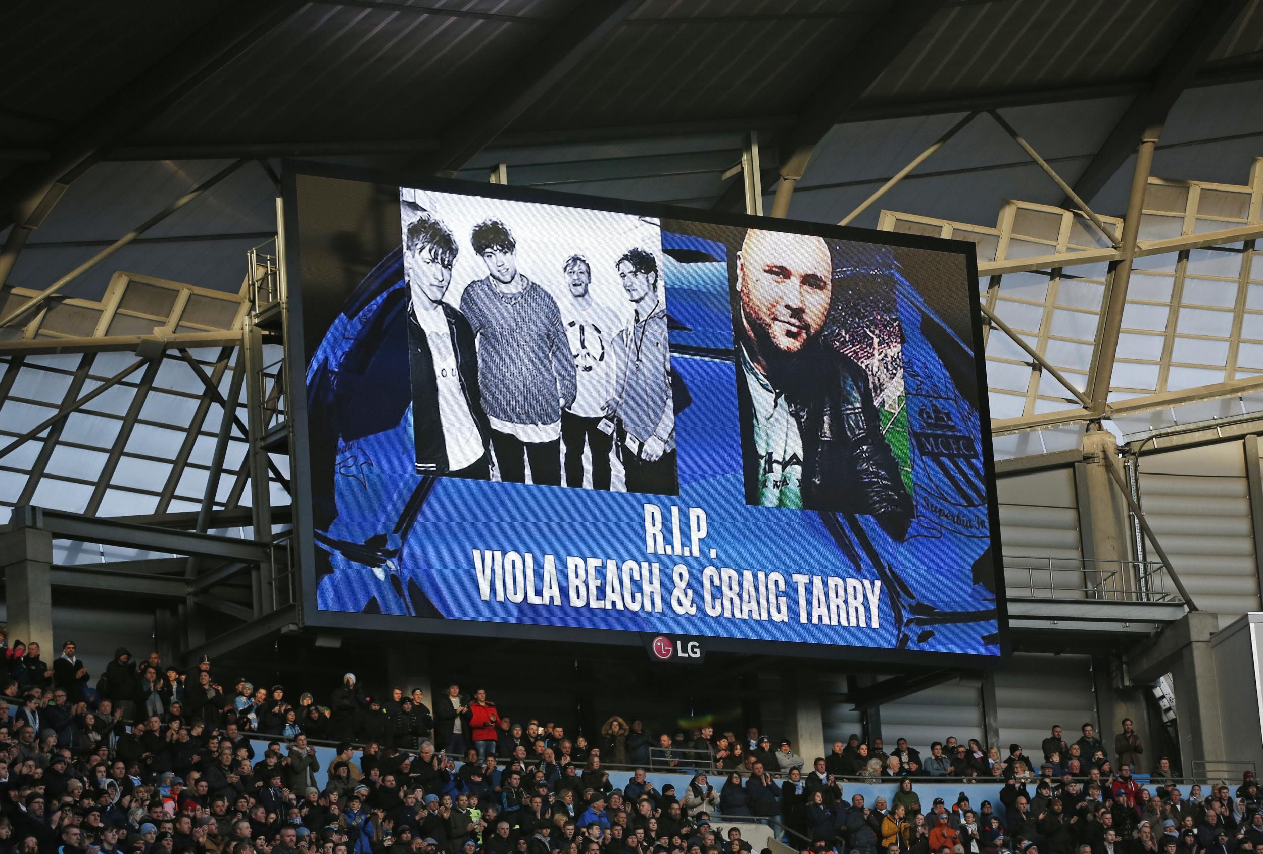
[[[1176,692],[1182,772],[1192,772],[1192,759],[1230,758],[1219,707],[1215,657],[1210,638],[1219,632],[1219,616],[1206,611],[1185,614],[1132,656],[1132,680],[1152,682],[1171,673]],[[1133,715],[1134,718],[1134,715]]]

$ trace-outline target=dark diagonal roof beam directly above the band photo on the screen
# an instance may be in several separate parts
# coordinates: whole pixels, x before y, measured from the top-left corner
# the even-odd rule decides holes
[[[437,152],[409,167],[451,177],[532,104],[572,73],[642,0],[581,0],[529,52],[446,123]]]

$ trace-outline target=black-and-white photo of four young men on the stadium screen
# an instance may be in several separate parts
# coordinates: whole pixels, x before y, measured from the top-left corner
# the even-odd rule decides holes
[[[678,494],[657,224],[400,196],[417,472]]]

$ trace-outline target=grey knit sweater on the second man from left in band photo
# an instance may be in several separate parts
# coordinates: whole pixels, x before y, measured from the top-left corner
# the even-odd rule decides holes
[[[554,424],[561,407],[575,402],[575,356],[557,301],[522,280],[518,293],[500,293],[488,277],[461,294],[461,313],[477,336],[482,408],[510,424]]]

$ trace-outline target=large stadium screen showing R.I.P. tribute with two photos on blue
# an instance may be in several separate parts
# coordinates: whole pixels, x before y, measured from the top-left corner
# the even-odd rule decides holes
[[[328,174],[288,211],[314,619],[1005,649],[969,244]]]

